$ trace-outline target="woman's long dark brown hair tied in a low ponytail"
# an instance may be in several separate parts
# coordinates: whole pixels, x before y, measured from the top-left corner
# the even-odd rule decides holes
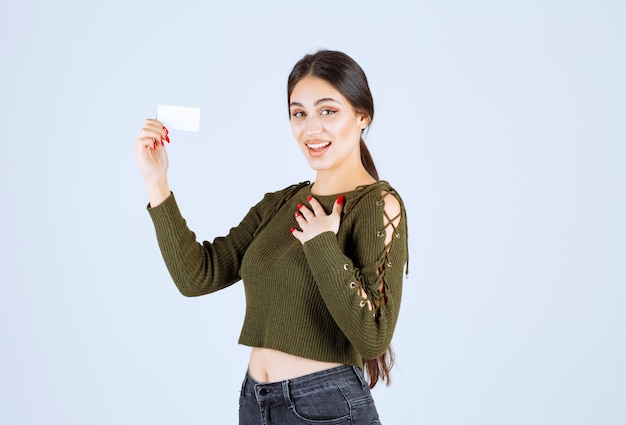
[[[374,119],[374,98],[370,91],[365,72],[358,63],[343,52],[320,50],[300,59],[287,80],[287,106],[296,84],[304,77],[317,77],[334,86],[357,113],[365,114],[369,124]],[[368,125],[369,127],[369,125]],[[361,134],[361,163],[367,172],[379,180],[378,171],[369,149]],[[363,359],[363,366],[369,377],[369,386],[374,388],[379,379],[390,383],[390,371],[394,363],[394,353],[390,347],[376,359]]]

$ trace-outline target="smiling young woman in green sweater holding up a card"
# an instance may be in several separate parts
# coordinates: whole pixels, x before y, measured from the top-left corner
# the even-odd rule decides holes
[[[227,236],[199,243],[168,186],[167,129],[148,119],[135,141],[148,211],[183,295],[244,282],[239,343],[252,348],[240,424],[377,424],[370,388],[389,382],[406,213],[363,142],[374,104],[354,60],[306,55],[287,98],[314,183],[267,193]]]

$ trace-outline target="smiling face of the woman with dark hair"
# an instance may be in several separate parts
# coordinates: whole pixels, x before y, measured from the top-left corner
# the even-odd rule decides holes
[[[300,80],[289,103],[291,130],[311,168],[332,171],[361,164],[359,141],[369,123],[331,84]]]

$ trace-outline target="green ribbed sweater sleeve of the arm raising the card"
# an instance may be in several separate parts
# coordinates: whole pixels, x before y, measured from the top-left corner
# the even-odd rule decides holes
[[[181,294],[193,297],[223,289],[241,279],[239,270],[246,249],[281,198],[267,193],[227,236],[197,242],[182,217],[174,194],[148,208],[167,269]]]

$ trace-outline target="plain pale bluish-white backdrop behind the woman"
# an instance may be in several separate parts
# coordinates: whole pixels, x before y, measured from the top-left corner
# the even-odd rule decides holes
[[[286,79],[347,52],[409,211],[389,424],[626,423],[626,3],[1,0],[0,423],[235,424],[242,286],[180,296],[132,144],[201,239],[314,175]]]

